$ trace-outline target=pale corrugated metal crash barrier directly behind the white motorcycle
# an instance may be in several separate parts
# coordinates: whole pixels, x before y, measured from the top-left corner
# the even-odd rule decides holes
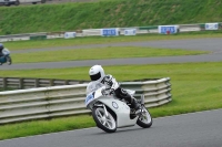
[[[145,106],[160,106],[171,101],[170,78],[145,82],[124,82],[135,97],[144,94]],[[89,114],[85,109],[87,84],[39,87],[0,92],[0,124]]]

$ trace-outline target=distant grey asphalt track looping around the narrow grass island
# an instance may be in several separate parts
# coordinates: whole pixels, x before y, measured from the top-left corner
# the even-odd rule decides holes
[[[222,61],[222,39],[192,39],[192,40],[164,40],[147,42],[125,42],[108,44],[90,44],[79,46],[59,46],[50,49],[30,49],[29,51],[13,51],[12,53],[41,52],[57,50],[91,49],[103,46],[153,46],[165,49],[185,49],[210,51],[210,54],[202,55],[183,55],[183,56],[164,56],[164,57],[135,57],[135,59],[110,59],[110,60],[87,60],[87,61],[63,61],[63,62],[42,62],[42,63],[22,63],[22,64],[3,64],[0,70],[31,70],[31,69],[63,69],[77,66],[101,65],[127,65],[127,64],[162,64],[162,63],[188,63],[188,62],[220,62]],[[12,59],[13,60],[13,59]]]

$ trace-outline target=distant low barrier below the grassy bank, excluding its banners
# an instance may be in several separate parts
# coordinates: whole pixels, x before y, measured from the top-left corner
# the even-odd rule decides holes
[[[179,30],[178,32],[192,32],[192,31],[203,31],[205,30],[206,23],[198,23],[198,24],[176,24]],[[137,34],[144,33],[159,33],[158,25],[152,27],[131,27],[131,28],[118,28],[119,34],[123,35],[124,30],[127,29],[135,29]],[[218,23],[216,30],[222,30],[222,22]],[[75,31],[77,38],[80,36],[101,36],[101,29],[87,29],[87,30],[78,30]],[[26,34],[12,34],[12,35],[0,35],[0,42],[7,41],[19,41],[19,40],[39,40],[39,39],[59,39],[64,38],[63,31],[61,32],[40,32],[40,33],[26,33]]]

